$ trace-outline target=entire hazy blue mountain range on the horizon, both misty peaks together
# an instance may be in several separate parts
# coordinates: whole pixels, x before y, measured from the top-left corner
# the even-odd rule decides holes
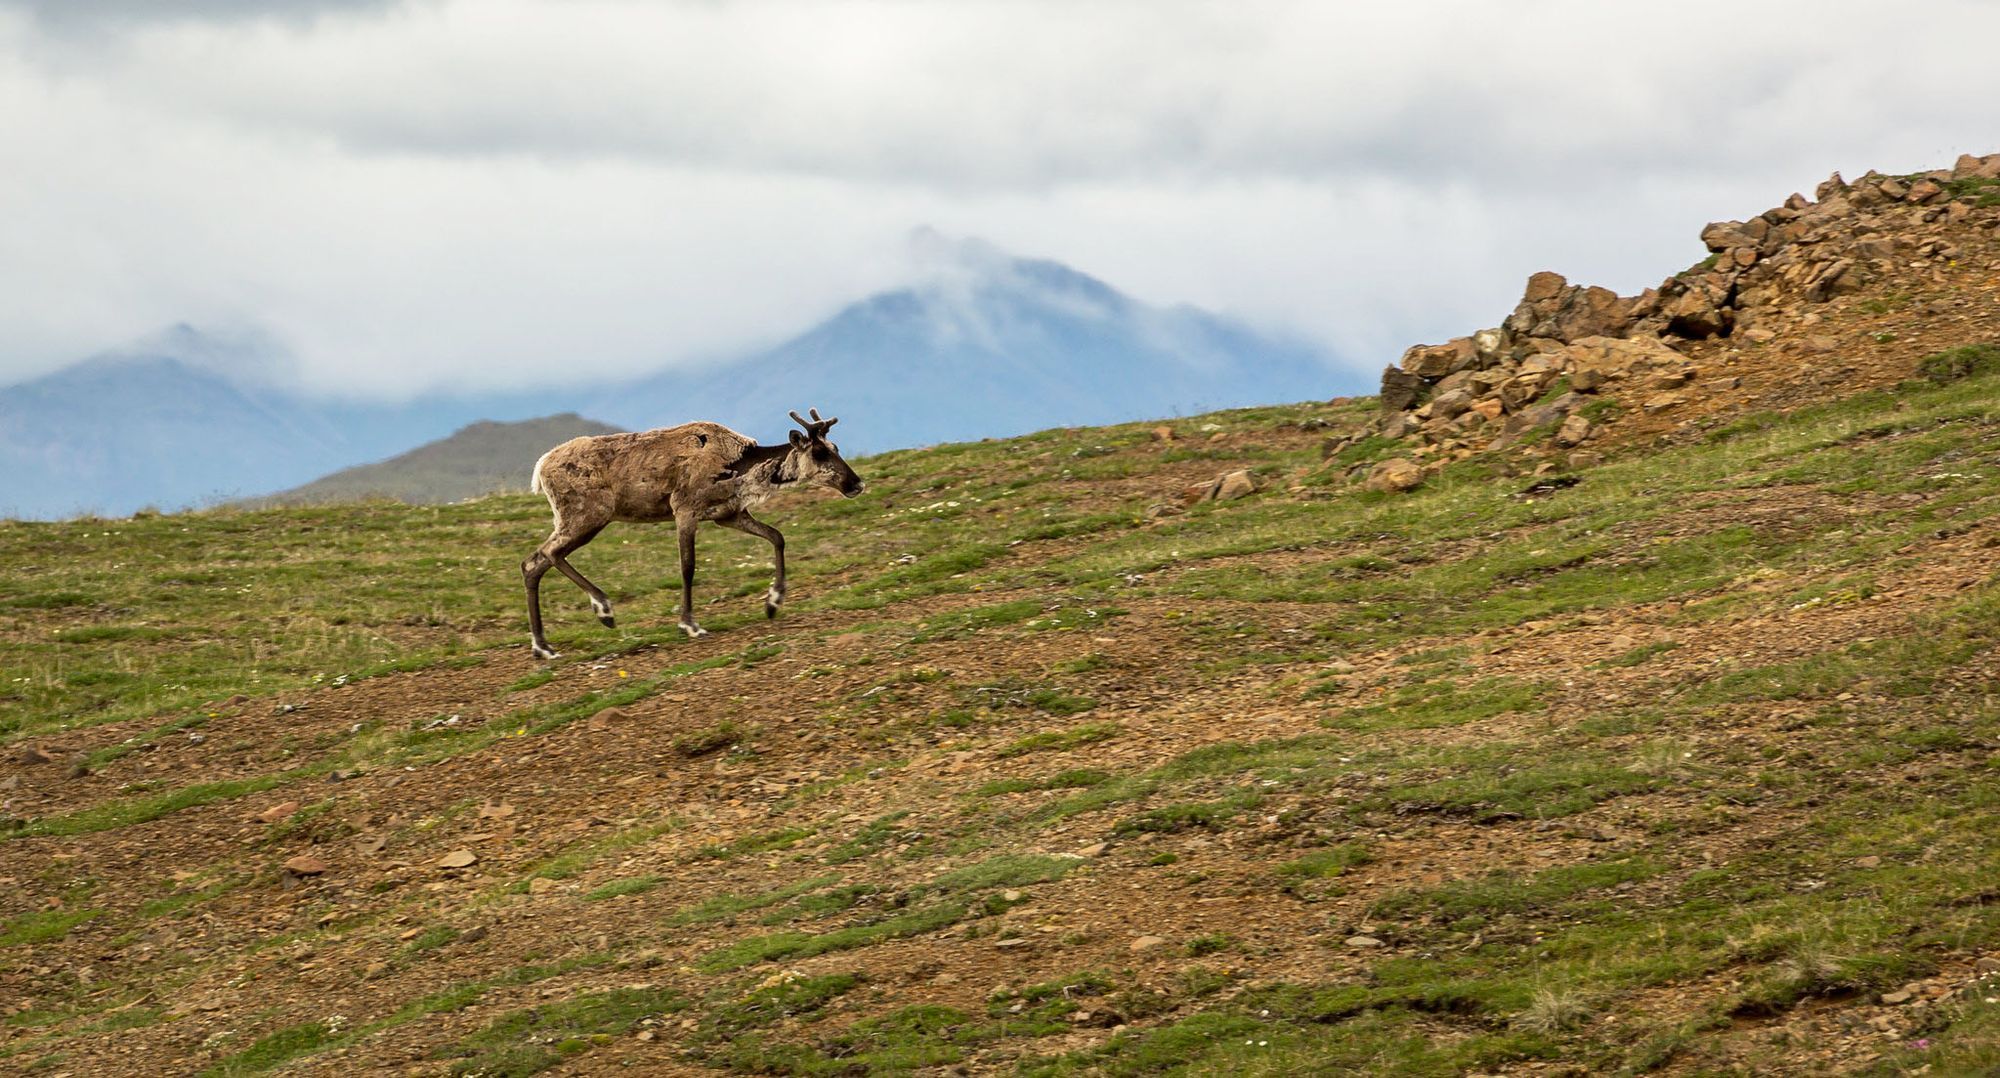
[[[788,410],[820,408],[840,416],[842,450],[866,454],[1374,388],[1308,342],[1150,306],[1058,262],[928,230],[914,246],[922,274],[908,288],[776,348],[634,382],[332,402],[294,388],[284,350],[256,332],[174,326],[0,390],[0,516],[178,510],[368,462],[382,462],[358,476],[368,492],[420,490],[398,472],[436,454],[384,458],[478,420],[554,412],[628,430],[702,418],[774,442]]]

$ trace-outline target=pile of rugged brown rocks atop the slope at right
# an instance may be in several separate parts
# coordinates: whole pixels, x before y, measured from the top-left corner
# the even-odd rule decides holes
[[[1584,446],[1604,430],[1578,414],[1594,396],[1662,414],[1690,394],[1730,388],[1728,378],[1702,380],[1688,358],[1694,342],[1764,346],[1792,328],[1806,342],[1798,348],[1814,354],[1804,330],[1814,306],[1912,264],[1950,262],[1952,228],[2000,226],[1996,204],[2000,154],[1966,154],[1916,176],[1834,174],[1814,198],[1794,194],[1750,220],[1712,222],[1700,230],[1708,258],[1638,296],[1538,272],[1500,326],[1418,344],[1386,368],[1374,434],[1418,440],[1420,456],[1506,448],[1530,432]]]

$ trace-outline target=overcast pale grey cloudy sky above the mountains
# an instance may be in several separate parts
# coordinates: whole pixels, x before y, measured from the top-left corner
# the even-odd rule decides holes
[[[272,14],[280,12],[280,14]],[[1542,268],[2000,152],[2000,4],[0,0],[0,384],[174,322],[322,388],[724,356],[916,226],[1368,374]]]

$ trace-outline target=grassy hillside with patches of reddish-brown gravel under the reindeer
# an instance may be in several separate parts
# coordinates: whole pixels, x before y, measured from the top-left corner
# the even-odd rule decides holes
[[[778,622],[606,532],[556,664],[536,498],[0,524],[0,1070],[2000,1066],[1996,392],[1406,496],[1366,400],[886,454]]]

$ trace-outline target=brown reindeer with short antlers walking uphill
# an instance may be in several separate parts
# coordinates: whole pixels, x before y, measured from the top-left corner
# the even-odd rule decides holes
[[[590,596],[598,620],[612,626],[612,600],[570,566],[568,556],[614,520],[632,524],[674,522],[680,536],[680,628],[706,636],[694,624],[694,528],[712,520],[770,542],[776,578],[764,592],[764,616],[776,618],[784,602],[784,536],[750,516],[774,494],[796,486],[830,486],[846,498],[862,492],[862,480],[840,458],[840,446],[826,440],[838,418],[822,420],[820,410],[792,422],[802,430],[776,446],[722,424],[690,422],[640,434],[598,434],[570,438],[534,462],[530,490],[548,496],[556,528],[520,564],[528,584],[528,646],[538,658],[556,658],[542,636],[542,576],[556,568]]]

